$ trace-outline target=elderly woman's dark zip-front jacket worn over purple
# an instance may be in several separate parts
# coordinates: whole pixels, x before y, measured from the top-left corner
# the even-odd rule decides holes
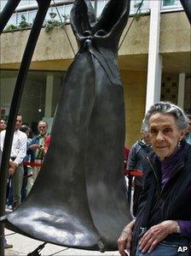
[[[182,141],[182,148],[177,154],[177,169],[163,188],[161,162],[156,155],[152,165],[153,170],[145,177],[147,186],[142,193],[142,203],[136,217],[131,256],[135,255],[140,227],[149,229],[165,220],[191,220],[191,146],[185,140]],[[186,236],[191,241],[191,235]]]

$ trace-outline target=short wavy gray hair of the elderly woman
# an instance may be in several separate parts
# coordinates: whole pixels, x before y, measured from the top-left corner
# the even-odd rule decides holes
[[[180,107],[176,104],[172,104],[171,102],[160,101],[150,107],[143,119],[143,127],[146,130],[149,131],[150,117],[156,113],[170,114],[171,116],[174,116],[179,129],[185,129],[188,127],[188,117]]]

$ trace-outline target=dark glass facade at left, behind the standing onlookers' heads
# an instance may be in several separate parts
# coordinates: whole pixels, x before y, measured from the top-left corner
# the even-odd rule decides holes
[[[9,109],[14,92],[18,70],[0,70],[0,117],[8,120]],[[19,113],[28,123],[34,134],[37,133],[38,121],[44,116],[52,120],[58,102],[61,80],[65,72],[29,71],[20,102]],[[49,95],[49,86],[52,94]],[[51,105],[46,98],[51,97]],[[47,109],[51,111],[47,115]]]

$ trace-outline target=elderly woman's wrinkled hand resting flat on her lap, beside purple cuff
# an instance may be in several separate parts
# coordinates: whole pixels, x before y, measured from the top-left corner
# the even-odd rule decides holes
[[[139,241],[139,250],[142,253],[151,253],[153,249],[163,241],[167,235],[177,233],[178,223],[173,220],[166,220],[162,223],[154,225],[142,236]]]

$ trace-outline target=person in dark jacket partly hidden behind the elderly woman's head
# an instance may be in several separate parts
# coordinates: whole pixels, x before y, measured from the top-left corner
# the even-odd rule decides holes
[[[142,171],[150,170],[150,164],[148,164],[148,155],[153,153],[152,146],[149,141],[148,131],[143,127],[141,129],[142,140],[137,140],[136,143],[130,148],[130,155],[127,162],[127,170]],[[140,197],[142,193],[142,176],[137,176],[134,179],[134,193],[133,193],[133,215],[136,216]]]

